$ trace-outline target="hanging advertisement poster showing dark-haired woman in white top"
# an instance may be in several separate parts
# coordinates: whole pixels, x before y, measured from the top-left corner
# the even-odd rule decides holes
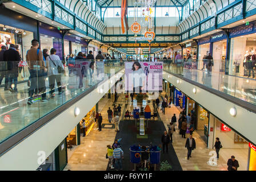
[[[163,62],[125,62],[126,92],[162,90]]]

